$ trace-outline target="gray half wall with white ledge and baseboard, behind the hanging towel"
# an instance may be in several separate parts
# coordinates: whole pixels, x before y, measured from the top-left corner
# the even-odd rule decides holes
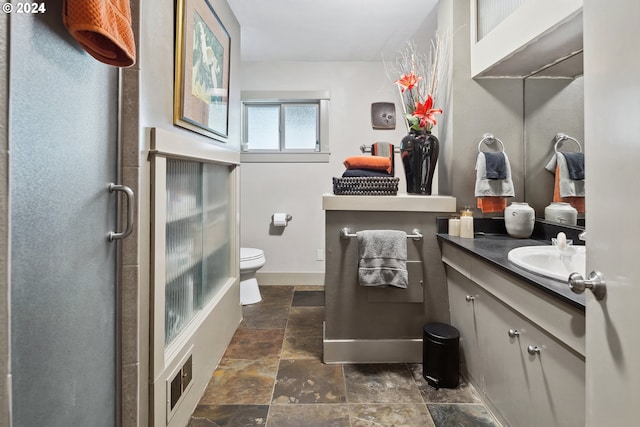
[[[455,211],[450,196],[336,196],[326,194],[325,363],[419,363],[422,326],[448,322],[447,287],[436,218]],[[407,289],[358,283],[358,241],[344,236],[361,230],[418,229],[407,239]]]

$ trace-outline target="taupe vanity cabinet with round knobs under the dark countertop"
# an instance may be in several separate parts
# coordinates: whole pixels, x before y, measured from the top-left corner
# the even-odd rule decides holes
[[[461,369],[506,425],[583,426],[584,311],[443,243]]]

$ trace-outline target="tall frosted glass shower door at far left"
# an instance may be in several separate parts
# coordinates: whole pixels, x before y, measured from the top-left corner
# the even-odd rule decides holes
[[[113,427],[118,71],[69,37],[57,3],[11,15],[13,426]]]

